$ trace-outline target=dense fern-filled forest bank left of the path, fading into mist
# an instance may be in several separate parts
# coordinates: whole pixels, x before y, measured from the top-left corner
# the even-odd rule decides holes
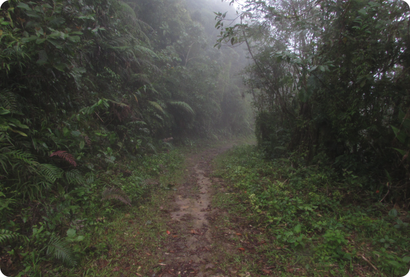
[[[2,5],[0,251],[21,274],[37,274],[46,254],[76,265],[115,203],[135,204],[147,179],[181,162],[157,158],[172,142],[252,132],[244,58],[213,49],[216,6]]]

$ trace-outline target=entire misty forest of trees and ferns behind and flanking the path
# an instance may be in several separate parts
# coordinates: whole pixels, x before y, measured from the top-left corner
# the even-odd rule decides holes
[[[148,155],[254,130],[266,159],[297,153],[408,208],[408,4],[233,2],[1,6],[2,251],[76,265],[72,221],[98,228],[101,193],[138,201],[156,171],[123,177]]]

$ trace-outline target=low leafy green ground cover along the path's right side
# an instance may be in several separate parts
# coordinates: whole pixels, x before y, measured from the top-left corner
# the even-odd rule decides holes
[[[337,172],[320,161],[302,166],[303,156],[295,153],[264,160],[250,145],[232,148],[215,163],[214,176],[228,182],[214,197],[214,205],[228,211],[220,224],[239,228],[233,220],[242,218],[247,223],[241,224],[248,226],[241,227],[243,232],[266,242],[252,251],[228,253],[231,258],[226,262],[235,265],[237,259],[241,274],[405,276],[409,272],[408,212],[381,204],[376,194],[361,189],[359,177],[351,172]],[[238,249],[241,240],[246,241],[242,236],[236,242]]]

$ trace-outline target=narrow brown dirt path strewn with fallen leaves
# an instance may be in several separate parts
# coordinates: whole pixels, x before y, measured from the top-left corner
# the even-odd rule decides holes
[[[217,212],[212,209],[214,193],[212,183],[219,182],[210,177],[210,163],[214,156],[229,149],[209,149],[188,158],[188,181],[179,186],[170,212],[172,242],[163,250],[162,270],[157,276],[212,276],[215,264],[211,263],[213,245],[217,243],[213,226],[208,219]]]

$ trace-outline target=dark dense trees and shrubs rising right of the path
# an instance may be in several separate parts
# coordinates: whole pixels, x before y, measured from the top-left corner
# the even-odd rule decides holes
[[[218,14],[218,45],[247,44],[253,58],[244,73],[258,145],[269,157],[308,150],[308,165],[325,154],[339,174],[360,176],[357,186],[407,206],[408,4],[239,3],[241,23],[226,26]]]

